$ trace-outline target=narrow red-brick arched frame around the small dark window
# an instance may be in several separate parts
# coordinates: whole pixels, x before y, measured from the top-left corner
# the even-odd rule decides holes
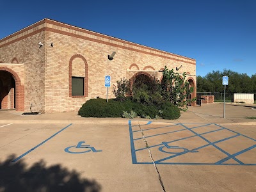
[[[84,61],[84,95],[83,96],[72,96],[72,61],[75,58],[81,58]],[[69,97],[88,97],[88,64],[86,59],[81,54],[74,54],[69,60]]]

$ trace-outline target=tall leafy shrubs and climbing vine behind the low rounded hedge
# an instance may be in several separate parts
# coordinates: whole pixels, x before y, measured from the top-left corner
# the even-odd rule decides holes
[[[186,73],[180,75],[164,67],[163,79],[161,83],[157,79],[141,74],[131,86],[130,81],[121,79],[113,88],[113,93],[117,100],[125,100],[125,97],[131,96],[132,100],[148,106],[163,106],[165,102],[170,102],[181,110],[186,111],[188,104],[195,101],[191,100],[193,87],[189,88],[189,82],[186,79]],[[131,91],[132,92],[129,92]]]

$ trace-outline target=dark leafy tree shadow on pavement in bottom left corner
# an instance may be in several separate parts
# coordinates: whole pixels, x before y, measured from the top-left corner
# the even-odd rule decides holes
[[[11,163],[15,156],[0,161],[0,191],[100,191],[95,180],[81,178],[75,170],[69,171],[54,164],[46,167],[44,160],[28,166],[24,161]]]

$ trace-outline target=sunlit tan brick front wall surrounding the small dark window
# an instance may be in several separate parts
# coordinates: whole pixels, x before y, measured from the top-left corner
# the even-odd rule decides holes
[[[168,68],[180,67],[179,72],[195,74],[195,65],[173,61],[166,58],[152,56],[135,51],[127,51],[120,47],[113,47],[98,42],[90,42],[80,38],[61,35],[47,31],[46,44],[53,43],[53,47],[46,47],[47,63],[45,70],[45,112],[77,111],[88,99],[97,96],[106,98],[104,76],[111,76],[111,84],[120,78],[130,79],[138,73],[138,68],[130,66],[138,65],[139,70],[145,70],[148,74],[161,78],[160,70],[167,65]],[[108,60],[108,54],[116,51],[114,60]],[[72,56],[80,54],[88,63],[88,97],[72,98],[68,96],[68,72],[69,61]],[[135,71],[134,71],[135,70]],[[84,76],[84,61],[75,58],[72,61],[72,76]],[[195,84],[196,84],[196,78]],[[109,88],[109,98],[114,97],[112,87]]]

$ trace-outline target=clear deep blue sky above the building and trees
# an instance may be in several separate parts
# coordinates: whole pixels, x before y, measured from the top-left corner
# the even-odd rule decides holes
[[[255,0],[0,0],[0,5],[0,39],[49,18],[194,58],[197,76],[224,68],[256,74]]]

